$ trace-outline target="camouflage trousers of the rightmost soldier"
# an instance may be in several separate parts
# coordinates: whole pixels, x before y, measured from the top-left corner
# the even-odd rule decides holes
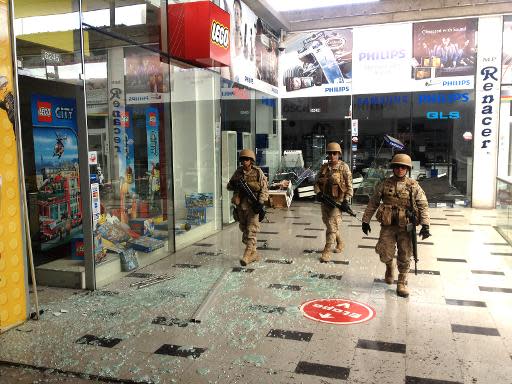
[[[412,256],[412,242],[409,233],[405,227],[381,225],[379,241],[375,246],[375,252],[379,254],[380,261],[384,264],[392,261],[395,256],[395,249],[398,249],[398,272],[409,272]]]

